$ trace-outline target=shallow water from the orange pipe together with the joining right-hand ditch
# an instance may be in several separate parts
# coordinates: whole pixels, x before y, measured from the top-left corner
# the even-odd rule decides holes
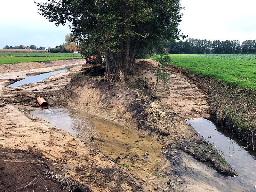
[[[187,123],[200,132],[206,140],[214,143],[216,149],[223,152],[228,163],[236,169],[238,177],[223,178],[217,172],[204,170],[201,162],[185,153],[181,159],[183,165],[172,166],[162,156],[165,153],[165,149],[161,149],[164,147],[163,143],[129,127],[92,116],[81,110],[49,107],[48,109],[37,108],[30,114],[48,121],[87,143],[92,143],[110,158],[121,157],[118,160],[119,164],[129,166],[132,172],[145,180],[147,178],[151,180],[161,172],[169,174],[173,170],[181,176],[183,173],[184,176],[192,178],[192,180],[187,178],[187,182],[191,180],[192,185],[195,182],[200,182],[202,185],[206,183],[223,192],[256,191],[253,188],[256,185],[255,154],[251,151],[247,152],[241,147],[241,145],[246,146],[244,143],[239,143],[235,138],[230,139],[225,135],[226,133],[221,133],[212,122],[206,119],[191,119],[187,120]]]

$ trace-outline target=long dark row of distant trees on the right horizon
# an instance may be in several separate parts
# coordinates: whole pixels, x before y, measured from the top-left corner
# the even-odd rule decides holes
[[[242,44],[237,41],[208,41],[206,39],[188,38],[186,41],[165,41],[166,51],[169,54],[252,54],[256,53],[256,40],[246,40]],[[162,42],[163,44],[163,42]],[[159,47],[153,52],[160,53]]]

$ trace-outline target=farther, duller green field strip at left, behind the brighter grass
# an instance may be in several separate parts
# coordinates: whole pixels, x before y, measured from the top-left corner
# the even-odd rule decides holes
[[[0,57],[48,57],[48,52],[0,52]],[[50,53],[50,57],[81,57],[80,53]]]

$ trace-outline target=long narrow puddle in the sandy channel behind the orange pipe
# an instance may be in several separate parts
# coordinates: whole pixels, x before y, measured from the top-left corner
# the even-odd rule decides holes
[[[47,73],[41,73],[41,74],[38,74],[38,75],[28,76],[25,79],[22,79],[20,81],[17,81],[13,84],[8,85],[7,87],[17,87],[17,86],[20,86],[20,85],[26,85],[26,84],[30,84],[30,83],[37,83],[37,82],[40,82],[40,81],[48,78],[50,75],[53,75],[55,73],[59,73],[59,72],[62,72],[62,71],[69,71],[69,70],[70,70],[70,68],[62,69],[62,70],[58,70],[58,71],[51,71],[51,72],[47,72]]]

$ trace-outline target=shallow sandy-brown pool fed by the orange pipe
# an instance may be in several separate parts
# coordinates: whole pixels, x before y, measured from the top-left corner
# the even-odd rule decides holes
[[[112,159],[119,157],[119,164],[128,166],[141,178],[172,169],[162,156],[164,144],[131,128],[75,109],[38,108],[30,114],[92,143]]]

